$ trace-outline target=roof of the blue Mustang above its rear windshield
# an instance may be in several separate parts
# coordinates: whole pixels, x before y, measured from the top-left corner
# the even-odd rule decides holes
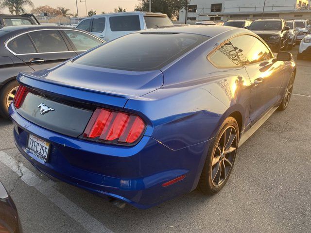
[[[224,33],[230,30],[240,30],[241,32],[248,31],[246,29],[238,29],[235,27],[227,27],[222,25],[210,25],[208,27],[204,25],[174,25],[170,27],[159,27],[159,28],[151,28],[142,31],[138,31],[137,33],[190,33],[190,34],[200,34],[206,35],[209,37],[216,36],[220,33]],[[249,31],[248,31],[249,32]]]

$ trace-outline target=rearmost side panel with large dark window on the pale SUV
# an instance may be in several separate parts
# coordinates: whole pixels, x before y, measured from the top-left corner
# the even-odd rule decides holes
[[[123,35],[137,32],[141,29],[139,15],[116,16],[112,15],[108,18],[106,29],[106,41],[110,41]]]

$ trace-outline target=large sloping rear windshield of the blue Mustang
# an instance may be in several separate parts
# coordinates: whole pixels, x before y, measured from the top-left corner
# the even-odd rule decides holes
[[[209,38],[186,33],[133,33],[106,43],[74,62],[121,70],[155,70],[171,63]]]

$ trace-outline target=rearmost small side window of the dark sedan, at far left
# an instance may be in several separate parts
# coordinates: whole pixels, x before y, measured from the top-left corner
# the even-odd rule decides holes
[[[37,52],[27,34],[23,34],[11,40],[8,44],[8,47],[10,50],[16,52],[17,54]]]

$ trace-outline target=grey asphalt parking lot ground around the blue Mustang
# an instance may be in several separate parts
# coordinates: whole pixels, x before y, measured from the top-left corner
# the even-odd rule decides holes
[[[298,47],[292,52],[296,58]],[[200,191],[148,210],[119,209],[31,166],[0,119],[0,181],[25,233],[311,232],[311,60],[297,62],[288,109],[275,112],[239,149],[225,188]]]

